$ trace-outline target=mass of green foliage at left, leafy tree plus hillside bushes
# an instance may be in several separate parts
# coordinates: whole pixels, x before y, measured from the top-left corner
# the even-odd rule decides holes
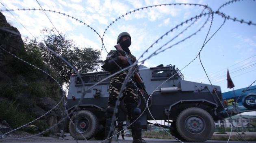
[[[103,63],[100,59],[100,51],[77,47],[72,40],[66,39],[64,35],[53,34],[52,30],[45,29],[44,32],[46,35],[41,42],[26,40],[24,46],[14,55],[46,71],[61,85],[69,82],[69,76],[74,71],[45,47],[61,55],[80,73],[97,71]],[[8,64],[0,68],[10,82],[0,84],[0,97],[4,97],[0,101],[0,121],[6,120],[12,128],[17,128],[34,119],[30,108],[35,105],[38,97],[50,97],[59,101],[61,92],[52,78],[32,65],[17,58],[9,58],[6,62]],[[48,127],[46,121],[41,120],[24,130],[35,133],[46,130]],[[46,132],[44,135],[49,134],[50,132]]]

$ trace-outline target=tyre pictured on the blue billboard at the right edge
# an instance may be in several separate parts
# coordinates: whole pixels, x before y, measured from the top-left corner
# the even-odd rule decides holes
[[[242,99],[243,106],[248,109],[256,109],[256,94],[250,93]]]

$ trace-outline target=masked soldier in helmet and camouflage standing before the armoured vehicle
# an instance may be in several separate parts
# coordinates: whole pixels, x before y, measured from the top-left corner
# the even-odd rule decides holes
[[[117,37],[117,44],[120,44],[122,49],[126,52],[128,57],[130,57],[131,62],[134,63],[136,61],[136,58],[131,54],[129,50],[129,46],[131,45],[131,36],[127,32],[122,32]],[[104,61],[104,64],[102,65],[102,68],[106,71],[110,71],[111,74],[123,69],[124,67],[127,67],[128,59],[124,56],[121,56],[119,51],[117,50],[111,50],[106,60]],[[128,74],[128,70],[122,71],[121,73],[113,76],[110,81],[109,86],[109,98],[108,98],[108,107],[106,108],[106,128],[105,128],[105,139],[109,134],[111,122],[112,122],[112,116],[114,114],[114,108],[115,103],[117,101],[121,86],[123,85],[123,82]],[[137,99],[138,99],[138,87],[135,83],[135,80],[133,80],[133,77],[129,79],[129,82],[126,84],[126,88],[123,91],[124,95],[124,102],[127,109],[128,119],[130,122],[134,122],[135,119],[139,117],[141,114],[141,109],[137,107]],[[141,122],[140,120],[136,120],[132,124],[132,143],[146,143],[145,140],[141,139]],[[113,132],[110,132],[110,135],[112,136]],[[111,143],[111,139],[109,140]]]

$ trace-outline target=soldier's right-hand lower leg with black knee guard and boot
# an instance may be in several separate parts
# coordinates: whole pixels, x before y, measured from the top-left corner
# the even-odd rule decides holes
[[[137,107],[137,104],[130,104],[127,105],[128,109],[128,114],[130,114],[130,123],[135,121],[141,114],[141,109]],[[129,111],[130,110],[130,111]],[[132,143],[147,143],[144,139],[141,139],[141,121],[140,119],[137,119],[133,124],[132,124],[132,138],[133,141]]]

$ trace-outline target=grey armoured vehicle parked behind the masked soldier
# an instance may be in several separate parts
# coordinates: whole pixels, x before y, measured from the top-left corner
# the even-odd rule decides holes
[[[175,65],[140,67],[139,74],[143,78],[148,95],[152,94],[149,99],[152,116],[155,120],[172,120],[168,128],[172,135],[182,141],[206,141],[213,135],[214,122],[226,117],[221,105],[223,99],[220,86],[186,81],[179,69],[175,69]],[[78,111],[71,115],[74,124],[69,122],[69,132],[73,137],[103,139],[110,79],[88,89],[109,75],[107,71],[80,74],[84,84],[78,75],[71,76],[67,97],[69,112],[78,104],[83,90],[86,91]],[[170,78],[171,76],[173,77]],[[167,80],[168,78],[170,79]],[[163,83],[165,80],[167,82]],[[159,85],[161,86],[152,93]],[[139,98],[138,107],[141,111],[145,109],[145,100],[148,98],[147,95]],[[126,120],[126,112],[124,102],[121,101],[117,120]],[[147,128],[148,120],[154,120],[150,112],[145,111],[140,118],[144,129]]]

